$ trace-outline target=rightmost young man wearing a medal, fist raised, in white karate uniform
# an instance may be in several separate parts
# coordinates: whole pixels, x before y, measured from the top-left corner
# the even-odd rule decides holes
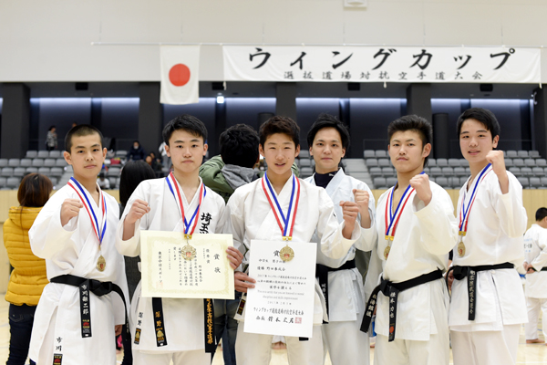
[[[455,365],[514,364],[519,330],[527,321],[521,278],[526,210],[522,187],[495,151],[500,124],[473,108],[458,120],[459,147],[471,176],[459,190],[459,241],[449,326]]]

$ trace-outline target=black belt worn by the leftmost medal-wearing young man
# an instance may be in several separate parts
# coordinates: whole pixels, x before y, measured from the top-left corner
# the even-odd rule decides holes
[[[121,291],[121,287],[110,281],[100,282],[98,280],[73,275],[56,276],[49,281],[51,283],[66,284],[72,287],[79,287],[81,318],[80,326],[82,329],[83,338],[91,337],[91,308],[89,301],[89,292],[95,294],[97,297],[106,296],[108,293],[113,291],[118,293],[125,307],[126,328],[128,328],[128,335],[130,339],[131,335],[129,333],[128,306],[126,304],[123,292]]]

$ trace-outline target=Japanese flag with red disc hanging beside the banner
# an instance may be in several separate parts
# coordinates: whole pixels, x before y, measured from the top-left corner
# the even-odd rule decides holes
[[[191,104],[200,100],[200,46],[161,46],[162,104]]]

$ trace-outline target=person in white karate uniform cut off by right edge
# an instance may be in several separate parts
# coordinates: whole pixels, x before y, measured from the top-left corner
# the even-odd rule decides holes
[[[544,343],[538,339],[538,319],[542,311],[543,338],[547,338],[547,208],[536,211],[536,223],[524,235],[524,270],[526,270],[526,307],[528,323],[524,325],[526,343]]]

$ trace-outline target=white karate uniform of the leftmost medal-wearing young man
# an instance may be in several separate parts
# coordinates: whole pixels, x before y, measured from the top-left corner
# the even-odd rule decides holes
[[[83,187],[82,187],[83,188]],[[85,188],[83,188],[85,190]],[[88,191],[90,208],[103,226],[103,214]],[[110,281],[122,288],[129,305],[127,279],[123,256],[115,245],[119,222],[119,204],[103,193],[107,204],[107,227],[99,254],[98,237],[82,208],[65,226],[61,226],[61,205],[66,199],[77,199],[77,193],[66,185],[59,189],[36,217],[28,232],[35,255],[46,259],[47,278],[73,275]],[[104,271],[98,271],[97,261],[102,255]],[[91,337],[82,338],[79,288],[49,283],[44,288],[36,308],[29,358],[37,364],[54,363],[53,356],[61,355],[66,364],[115,364],[115,325],[125,324],[125,308],[119,295],[111,292],[97,297],[89,294]]]

